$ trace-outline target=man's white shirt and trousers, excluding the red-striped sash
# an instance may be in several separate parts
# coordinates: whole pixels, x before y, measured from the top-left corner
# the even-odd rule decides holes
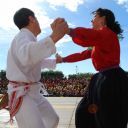
[[[15,63],[12,51],[20,62]],[[50,103],[40,94],[42,83],[41,69],[56,66],[55,60],[46,59],[56,52],[50,37],[37,42],[36,37],[28,29],[23,28],[13,39],[8,51],[6,76],[10,81],[32,82],[29,90],[24,86],[13,88],[8,84],[9,96],[17,90],[17,97],[23,96],[23,102],[15,117],[18,128],[56,128],[59,117]]]

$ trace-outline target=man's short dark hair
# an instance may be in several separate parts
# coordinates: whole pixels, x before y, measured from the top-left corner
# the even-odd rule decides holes
[[[21,8],[14,14],[15,25],[21,29],[29,24],[29,16],[35,17],[34,12],[28,8]]]

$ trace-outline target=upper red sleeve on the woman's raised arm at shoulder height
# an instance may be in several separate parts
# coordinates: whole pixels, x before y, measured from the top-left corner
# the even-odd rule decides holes
[[[101,45],[102,40],[105,39],[106,31],[94,30],[90,28],[78,27],[70,29],[70,36],[74,43],[83,47]]]

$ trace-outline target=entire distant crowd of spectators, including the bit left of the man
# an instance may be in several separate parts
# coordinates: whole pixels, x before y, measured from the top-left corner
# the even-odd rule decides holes
[[[93,74],[92,74],[93,75]],[[64,96],[64,97],[82,97],[91,79],[91,76],[86,77],[42,77],[46,91],[46,96]],[[128,75],[128,72],[127,72]],[[0,94],[7,92],[8,80],[6,77],[0,79]]]

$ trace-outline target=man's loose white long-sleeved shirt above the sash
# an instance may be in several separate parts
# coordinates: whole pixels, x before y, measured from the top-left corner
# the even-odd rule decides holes
[[[54,42],[50,37],[37,42],[35,36],[28,29],[23,28],[13,39],[10,49],[23,67],[18,68],[9,50],[6,76],[11,81],[37,82],[41,78],[41,68],[54,69],[56,66],[54,59],[47,59],[56,52]]]

